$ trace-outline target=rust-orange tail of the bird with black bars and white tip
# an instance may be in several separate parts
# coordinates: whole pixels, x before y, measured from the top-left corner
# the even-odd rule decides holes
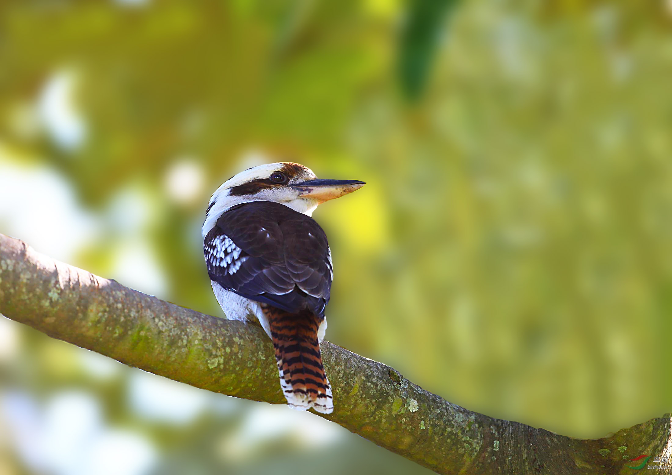
[[[271,327],[280,387],[287,404],[302,411],[312,407],[319,413],[331,413],[333,398],[322,366],[318,318],[310,310],[297,314],[269,305],[263,305],[262,309]]]

